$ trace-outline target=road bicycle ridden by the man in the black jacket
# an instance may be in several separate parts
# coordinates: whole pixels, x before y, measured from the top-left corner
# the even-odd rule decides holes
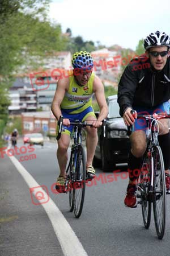
[[[151,204],[153,204],[156,233],[158,238],[162,239],[165,232],[166,186],[163,155],[158,142],[158,122],[159,119],[170,118],[170,115],[138,115],[137,119],[139,118],[146,120],[147,148],[137,185],[137,198],[141,199],[138,204],[142,205],[143,224],[146,229],[150,227]],[[133,131],[133,126],[131,131]]]

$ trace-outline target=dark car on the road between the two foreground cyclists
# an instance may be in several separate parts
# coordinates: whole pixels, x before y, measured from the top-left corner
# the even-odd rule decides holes
[[[119,114],[117,95],[107,98],[108,117],[106,119],[105,138],[103,127],[97,129],[99,141],[95,151],[94,166],[99,166],[104,172],[116,170],[116,164],[127,163],[130,150],[130,140],[127,127]],[[99,113],[96,113],[96,116]]]

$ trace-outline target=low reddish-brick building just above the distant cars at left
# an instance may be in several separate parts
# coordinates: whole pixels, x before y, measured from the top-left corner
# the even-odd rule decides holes
[[[22,113],[22,134],[42,133],[56,134],[57,120],[51,111]]]

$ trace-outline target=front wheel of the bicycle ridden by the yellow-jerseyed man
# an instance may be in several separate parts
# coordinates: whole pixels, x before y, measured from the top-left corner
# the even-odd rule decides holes
[[[76,175],[81,176],[81,181],[76,181]],[[86,156],[82,145],[76,147],[76,168],[75,182],[73,184],[73,205],[74,215],[79,218],[84,204],[84,195],[86,188]]]

